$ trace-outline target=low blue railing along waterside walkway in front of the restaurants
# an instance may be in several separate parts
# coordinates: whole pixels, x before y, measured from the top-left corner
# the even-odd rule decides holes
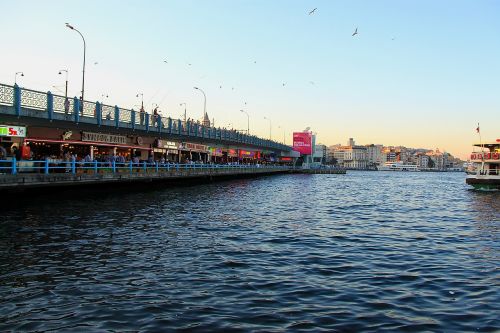
[[[160,162],[98,162],[98,161],[60,161],[45,159],[40,161],[20,160],[0,160],[0,174],[19,173],[152,173],[169,172],[181,170],[236,170],[236,169],[290,169],[281,165],[246,165],[246,164],[199,164],[199,163],[160,163]]]

